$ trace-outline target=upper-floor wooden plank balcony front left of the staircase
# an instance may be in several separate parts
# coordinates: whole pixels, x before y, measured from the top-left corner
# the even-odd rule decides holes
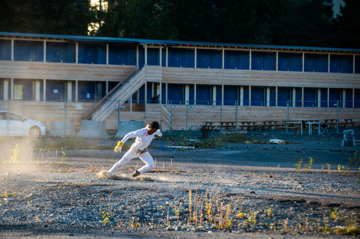
[[[0,61],[1,78],[120,81],[135,66]]]

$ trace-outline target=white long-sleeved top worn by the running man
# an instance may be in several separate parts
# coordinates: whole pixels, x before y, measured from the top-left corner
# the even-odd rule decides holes
[[[156,134],[162,136],[162,133],[159,130],[156,130],[155,133],[149,135],[148,126],[149,125],[143,129],[138,129],[126,134],[124,138],[121,139],[121,142],[125,143],[129,138],[136,137],[135,143],[132,144],[132,147],[136,148],[137,150],[143,150],[144,148],[147,148]]]

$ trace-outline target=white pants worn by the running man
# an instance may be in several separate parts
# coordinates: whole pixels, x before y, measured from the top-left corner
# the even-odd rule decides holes
[[[154,160],[151,157],[149,152],[145,152],[145,153],[139,155],[139,153],[136,153],[136,151],[133,148],[130,148],[130,150],[128,150],[124,154],[124,156],[122,156],[121,160],[119,160],[118,162],[116,162],[116,164],[114,164],[114,166],[109,170],[109,172],[113,174],[121,165],[126,164],[131,159],[136,158],[136,157],[139,157],[145,163],[145,165],[143,167],[138,169],[139,173],[144,173],[144,172],[152,170],[154,168],[154,166],[155,166]]]

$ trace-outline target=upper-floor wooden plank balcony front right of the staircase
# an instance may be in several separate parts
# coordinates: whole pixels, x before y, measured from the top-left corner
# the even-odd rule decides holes
[[[360,88],[360,75],[163,67],[162,82],[228,86]]]

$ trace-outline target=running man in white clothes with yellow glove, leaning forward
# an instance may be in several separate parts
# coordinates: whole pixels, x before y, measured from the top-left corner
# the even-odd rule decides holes
[[[114,166],[109,170],[109,173],[114,173],[121,165],[126,164],[132,158],[139,157],[145,165],[138,170],[135,170],[131,176],[134,178],[139,176],[140,173],[144,173],[146,171],[152,170],[154,168],[154,160],[151,157],[150,153],[148,152],[147,147],[155,137],[155,134],[162,136],[162,133],[159,131],[160,125],[156,121],[152,121],[143,129],[138,129],[136,131],[130,132],[124,136],[124,138],[117,143],[115,146],[114,151],[116,153],[121,152],[121,148],[124,143],[129,138],[135,138],[135,143],[132,144],[131,148],[122,156],[121,160],[116,162]]]

